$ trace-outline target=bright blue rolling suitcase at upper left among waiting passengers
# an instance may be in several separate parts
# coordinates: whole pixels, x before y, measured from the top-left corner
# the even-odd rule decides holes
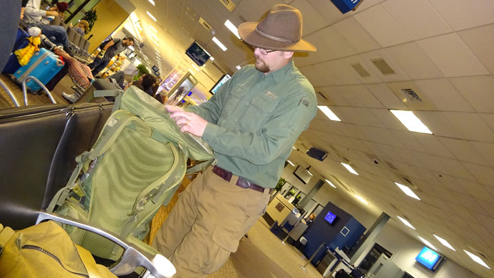
[[[37,78],[41,83],[47,84],[51,78],[54,78],[58,71],[64,67],[64,62],[48,49],[41,48],[32,56],[30,62],[17,69],[14,76],[21,83],[27,76]],[[27,89],[39,91],[41,87],[32,80],[27,82]]]

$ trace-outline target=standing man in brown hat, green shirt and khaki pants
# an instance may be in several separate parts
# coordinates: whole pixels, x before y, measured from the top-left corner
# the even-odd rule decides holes
[[[264,213],[296,139],[316,115],[309,81],[294,67],[294,51],[316,51],[302,40],[302,15],[274,5],[259,23],[243,23],[255,65],[239,69],[209,102],[171,117],[215,151],[217,163],[180,194],[152,245],[176,277],[203,277],[220,268]]]

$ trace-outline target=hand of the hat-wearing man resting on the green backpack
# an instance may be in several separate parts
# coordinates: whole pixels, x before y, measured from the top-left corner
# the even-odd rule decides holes
[[[205,119],[195,113],[186,112],[178,106],[167,105],[166,108],[172,113],[170,117],[180,126],[180,131],[202,137],[208,123]]]

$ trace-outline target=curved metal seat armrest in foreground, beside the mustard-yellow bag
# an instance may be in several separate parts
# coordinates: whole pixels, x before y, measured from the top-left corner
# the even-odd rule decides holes
[[[115,262],[115,264],[110,266],[110,271],[117,275],[128,275],[134,271],[135,268],[141,266],[146,268],[154,277],[156,278],[168,278],[175,275],[176,270],[171,262],[169,262],[163,255],[156,254],[154,258],[151,258],[152,254],[149,254],[143,249],[135,246],[134,244],[130,244],[122,240],[118,235],[112,233],[110,231],[106,231],[102,228],[97,228],[91,226],[87,222],[83,222],[81,220],[75,220],[73,218],[69,218],[67,216],[59,216],[56,213],[48,213],[46,211],[40,211],[38,215],[38,220],[36,220],[36,224],[46,220],[54,220],[55,222],[60,222],[62,224],[68,224],[73,227],[77,227],[80,229],[84,229],[86,231],[91,231],[97,235],[101,235],[115,244],[118,244],[122,248],[124,248],[124,254],[120,257],[120,259]],[[160,269],[158,269],[152,262],[156,262],[160,260]],[[165,266],[163,267],[163,263]]]

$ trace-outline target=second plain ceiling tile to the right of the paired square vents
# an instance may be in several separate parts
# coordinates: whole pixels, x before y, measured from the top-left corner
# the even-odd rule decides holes
[[[447,77],[489,74],[457,34],[426,38],[417,43]]]

